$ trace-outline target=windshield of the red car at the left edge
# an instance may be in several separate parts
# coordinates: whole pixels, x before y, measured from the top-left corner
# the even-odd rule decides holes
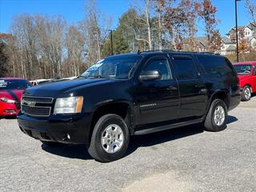
[[[0,79],[0,90],[26,90],[30,83],[26,80],[3,80]]]

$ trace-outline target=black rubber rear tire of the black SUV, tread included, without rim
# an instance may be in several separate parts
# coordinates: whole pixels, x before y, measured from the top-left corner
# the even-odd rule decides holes
[[[222,124],[217,124],[214,120],[214,112],[217,109],[218,106],[221,106],[224,110],[224,121]],[[220,107],[220,108],[221,108]],[[214,101],[210,105],[210,110],[208,111],[208,114],[206,115],[206,120],[204,123],[205,129],[208,131],[221,131],[226,129],[226,119],[227,119],[227,108],[226,103],[223,102],[221,99],[214,99]]]

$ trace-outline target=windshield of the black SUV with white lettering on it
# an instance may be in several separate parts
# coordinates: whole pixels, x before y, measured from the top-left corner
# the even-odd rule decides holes
[[[104,58],[90,66],[81,76],[85,78],[129,78],[134,66],[141,58],[140,55]]]

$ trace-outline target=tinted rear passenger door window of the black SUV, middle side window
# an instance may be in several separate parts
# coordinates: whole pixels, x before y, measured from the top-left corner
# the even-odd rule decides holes
[[[198,77],[192,58],[174,58],[174,69],[178,79]]]

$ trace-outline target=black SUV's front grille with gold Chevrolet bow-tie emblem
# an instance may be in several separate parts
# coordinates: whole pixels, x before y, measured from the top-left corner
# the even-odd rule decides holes
[[[49,117],[54,98],[22,97],[22,113],[34,117]]]

